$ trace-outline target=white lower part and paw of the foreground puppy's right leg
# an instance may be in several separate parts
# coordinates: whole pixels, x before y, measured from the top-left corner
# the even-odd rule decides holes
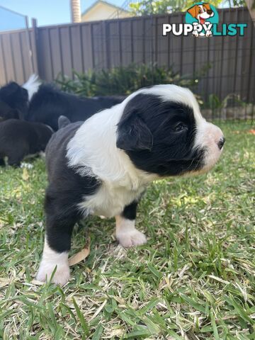
[[[135,220],[126,220],[122,216],[116,216],[116,239],[122,246],[140,246],[145,244],[145,234],[135,229]]]

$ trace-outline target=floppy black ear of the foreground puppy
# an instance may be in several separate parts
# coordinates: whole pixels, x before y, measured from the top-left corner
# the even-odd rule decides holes
[[[125,151],[151,150],[153,135],[137,112],[128,114],[118,124],[116,145]]]

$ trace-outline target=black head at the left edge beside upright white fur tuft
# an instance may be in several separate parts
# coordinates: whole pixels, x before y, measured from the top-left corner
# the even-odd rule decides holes
[[[28,91],[14,81],[0,89],[0,120],[23,118],[28,108]]]

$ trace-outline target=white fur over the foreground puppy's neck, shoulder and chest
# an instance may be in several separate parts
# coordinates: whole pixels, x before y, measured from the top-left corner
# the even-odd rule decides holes
[[[128,155],[116,147],[116,129],[123,108],[118,104],[92,116],[67,145],[69,166],[77,168],[81,176],[96,176],[102,182],[95,195],[86,196],[79,204],[85,214],[120,214],[157,177],[135,168]]]

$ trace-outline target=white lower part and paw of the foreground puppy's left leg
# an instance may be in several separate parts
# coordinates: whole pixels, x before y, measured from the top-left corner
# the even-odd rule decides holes
[[[38,270],[36,280],[45,282],[49,281],[52,272],[56,269],[56,272],[52,278],[52,283],[57,285],[64,285],[67,283],[70,277],[69,264],[68,264],[68,252],[57,253],[50,248],[45,238],[45,246],[43,248],[42,261]]]

